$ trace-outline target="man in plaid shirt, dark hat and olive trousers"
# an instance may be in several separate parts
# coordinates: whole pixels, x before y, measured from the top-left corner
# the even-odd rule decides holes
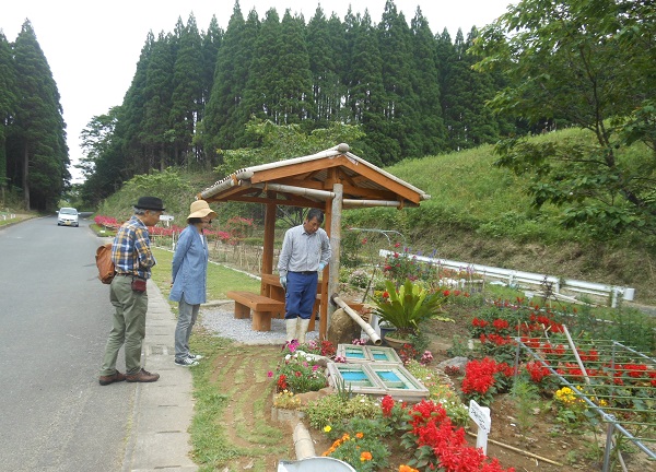
[[[145,337],[148,293],[145,281],[156,263],[150,248],[148,226],[154,226],[164,212],[162,200],[141,197],[134,205],[134,215],[116,233],[112,245],[112,260],[116,276],[109,287],[109,299],[116,308],[105,357],[98,379],[102,386],[118,381],[151,382],[160,378],[141,367],[141,345]],[[125,343],[126,374],[116,369],[118,351]]]

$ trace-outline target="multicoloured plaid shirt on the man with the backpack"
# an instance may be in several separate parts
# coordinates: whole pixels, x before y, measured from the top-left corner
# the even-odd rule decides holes
[[[116,233],[112,245],[116,272],[150,279],[150,269],[157,262],[150,249],[148,227],[137,216],[128,220]]]

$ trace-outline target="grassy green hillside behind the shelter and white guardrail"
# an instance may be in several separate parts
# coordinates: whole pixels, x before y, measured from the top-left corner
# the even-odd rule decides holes
[[[565,130],[535,139],[565,138],[585,135]],[[343,227],[395,229],[413,252],[435,251],[444,259],[631,286],[636,290],[636,302],[656,304],[653,238],[628,234],[599,241],[587,232],[563,229],[558,209],[532,209],[525,193],[526,182],[494,167],[492,151],[492,146],[484,145],[386,167],[431,199],[418,209],[402,211],[351,210],[344,212]],[[221,177],[172,169],[138,176],[107,199],[98,214],[125,217],[139,194],[152,193],[162,196],[167,213],[183,222],[195,194]],[[261,209],[253,205],[229,203],[218,211],[220,222],[235,213],[255,217],[256,222],[261,216]],[[221,223],[215,228],[221,228]]]

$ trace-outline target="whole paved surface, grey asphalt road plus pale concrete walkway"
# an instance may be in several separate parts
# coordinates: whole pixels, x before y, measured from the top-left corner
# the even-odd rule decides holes
[[[174,364],[176,320],[154,283],[142,362],[160,380],[98,385],[114,308],[87,226],[0,229],[0,470],[197,470],[191,373]]]

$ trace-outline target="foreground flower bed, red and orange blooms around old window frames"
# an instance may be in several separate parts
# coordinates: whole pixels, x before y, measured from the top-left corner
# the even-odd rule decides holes
[[[326,361],[319,356],[333,354],[335,349],[326,341],[288,343],[277,369],[268,373],[277,382],[274,405],[303,409],[309,425],[332,441],[324,456],[340,459],[362,472],[389,468],[393,450],[407,459],[398,465],[403,472],[506,470],[466,441],[461,425],[467,422],[468,410],[448,385],[448,378],[441,379],[424,365],[432,359],[430,353],[423,354],[424,364],[411,358],[405,363],[429,389],[429,400],[411,405],[389,396],[353,396],[342,385],[333,394],[301,405],[298,393],[326,385],[325,377],[319,379]]]

